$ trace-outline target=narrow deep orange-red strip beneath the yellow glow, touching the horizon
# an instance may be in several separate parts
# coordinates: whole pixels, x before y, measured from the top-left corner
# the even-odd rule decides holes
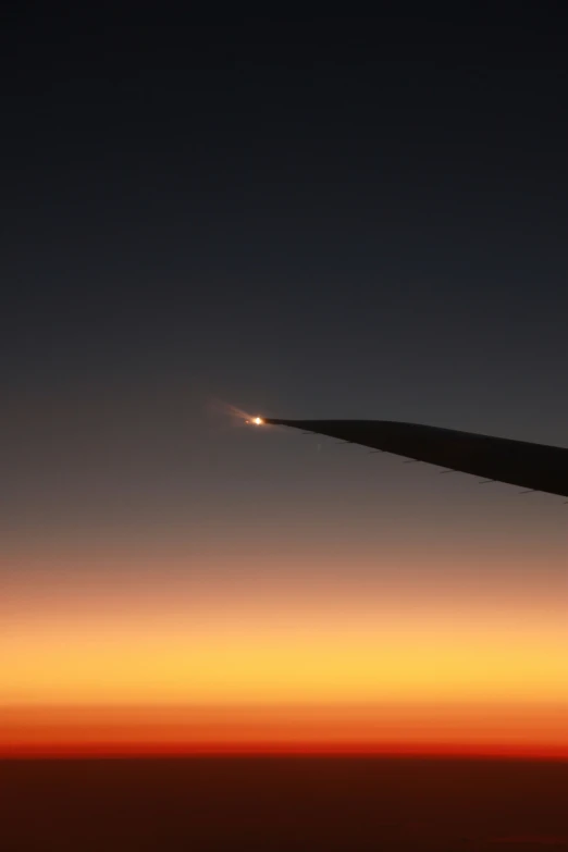
[[[566,707],[12,706],[0,757],[430,755],[568,760]]]

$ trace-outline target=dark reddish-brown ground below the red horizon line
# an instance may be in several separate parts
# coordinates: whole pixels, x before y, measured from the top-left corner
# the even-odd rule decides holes
[[[2,852],[568,850],[568,762],[0,761]]]

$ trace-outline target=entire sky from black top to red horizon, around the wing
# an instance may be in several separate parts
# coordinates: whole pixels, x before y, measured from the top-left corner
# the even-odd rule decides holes
[[[568,755],[563,23],[9,8],[1,754]]]

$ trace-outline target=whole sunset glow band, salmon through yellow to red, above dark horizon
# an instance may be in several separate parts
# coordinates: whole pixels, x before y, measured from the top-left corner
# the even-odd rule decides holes
[[[45,579],[42,580],[41,577]],[[12,572],[0,757],[568,758],[561,589],[299,571]]]

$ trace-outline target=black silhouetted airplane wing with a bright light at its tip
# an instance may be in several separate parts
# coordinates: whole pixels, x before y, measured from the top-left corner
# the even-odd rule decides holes
[[[275,420],[266,423],[330,435],[385,453],[568,497],[568,449],[454,429],[390,420]]]

